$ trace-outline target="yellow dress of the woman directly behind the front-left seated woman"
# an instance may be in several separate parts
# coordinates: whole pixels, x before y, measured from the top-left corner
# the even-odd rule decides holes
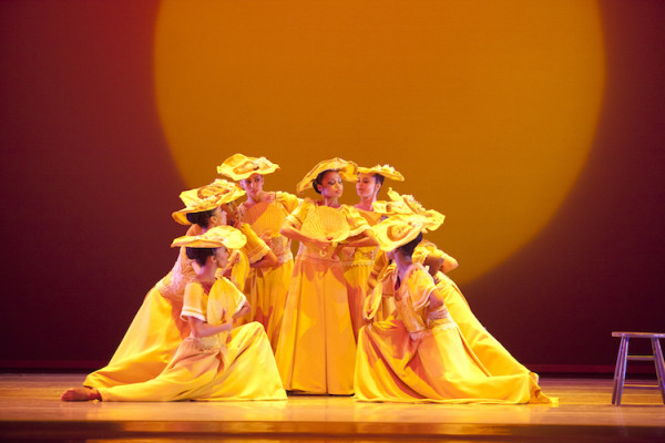
[[[249,268],[247,257],[256,261],[266,255],[269,248],[248,225],[238,229],[247,237],[247,244],[239,250],[247,265],[237,266],[237,270],[234,267],[233,271],[239,274],[242,277],[235,278],[244,282],[244,272]],[[187,235],[197,234],[201,234],[201,227],[197,225],[187,230]],[[109,364],[90,373],[83,385],[110,388],[157,377],[168,364],[177,346],[190,334],[190,326],[181,319],[180,313],[185,286],[195,277],[185,248],[181,248],[171,272],[145,296]],[[232,279],[233,277],[232,275]]]

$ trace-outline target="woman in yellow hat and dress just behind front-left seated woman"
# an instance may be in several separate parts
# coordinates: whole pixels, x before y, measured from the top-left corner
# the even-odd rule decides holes
[[[192,225],[187,235],[205,233],[227,224],[221,206],[245,194],[236,184],[216,179],[212,184],[181,193],[185,208],[173,213],[183,225]],[[253,257],[269,251],[267,245],[250,229],[243,249]],[[259,258],[260,259],[260,258]],[[181,248],[173,269],[149,292],[109,364],[89,374],[85,387],[109,388],[154,379],[166,367],[173,352],[190,333],[180,318],[185,286],[195,277],[190,259]]]

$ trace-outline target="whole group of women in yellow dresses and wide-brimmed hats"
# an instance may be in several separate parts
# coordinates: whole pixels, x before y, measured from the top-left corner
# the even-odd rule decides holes
[[[552,402],[473,316],[447,276],[454,258],[423,239],[443,215],[391,189],[378,200],[400,173],[324,161],[296,186],[319,198],[301,199],[264,189],[278,168],[235,154],[226,178],[181,193],[173,269],[109,364],[62,400]],[[339,202],[345,181],[355,206]]]

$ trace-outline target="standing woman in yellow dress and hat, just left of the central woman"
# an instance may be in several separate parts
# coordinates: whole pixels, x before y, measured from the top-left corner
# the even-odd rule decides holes
[[[279,234],[286,216],[300,203],[293,194],[264,190],[264,176],[279,165],[265,157],[234,154],[217,166],[217,173],[239,183],[247,199],[238,205],[239,219],[266,241],[277,264],[249,269],[244,284],[252,312],[245,321],[258,321],[266,329],[273,350],[282,328],[286,293],[294,271],[290,238]]]

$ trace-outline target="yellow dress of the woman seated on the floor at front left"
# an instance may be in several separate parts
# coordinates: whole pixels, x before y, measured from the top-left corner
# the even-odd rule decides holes
[[[215,324],[224,310],[232,316],[244,302],[245,296],[226,278],[209,291],[194,281],[185,290],[182,316]],[[211,337],[188,337],[156,378],[98,390],[103,401],[286,399],[270,343],[256,322]]]

